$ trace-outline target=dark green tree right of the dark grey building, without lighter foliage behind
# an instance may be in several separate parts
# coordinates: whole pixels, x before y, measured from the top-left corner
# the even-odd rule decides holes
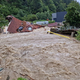
[[[80,26],[80,13],[77,11],[76,7],[71,6],[67,8],[67,14],[65,16],[66,23],[70,26],[79,27]]]

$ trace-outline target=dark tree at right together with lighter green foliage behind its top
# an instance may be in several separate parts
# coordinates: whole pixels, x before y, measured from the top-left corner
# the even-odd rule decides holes
[[[65,23],[68,23],[73,27],[80,27],[80,4],[73,1],[68,5],[66,11]]]

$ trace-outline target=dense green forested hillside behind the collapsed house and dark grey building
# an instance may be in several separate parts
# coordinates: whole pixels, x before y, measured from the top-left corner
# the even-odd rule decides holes
[[[3,13],[5,17],[13,15],[21,20],[27,20],[27,15],[30,14],[36,15],[36,19],[51,19],[52,13],[65,11],[71,1],[73,0],[0,0],[0,4],[5,6],[0,14]]]

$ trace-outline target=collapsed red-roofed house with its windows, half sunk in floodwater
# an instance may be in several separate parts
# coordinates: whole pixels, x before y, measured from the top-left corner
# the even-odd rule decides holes
[[[21,21],[14,16],[7,16],[6,19],[9,21],[9,26],[7,31],[10,33],[17,32],[31,32],[33,29],[43,27],[41,25],[32,25],[30,22]]]

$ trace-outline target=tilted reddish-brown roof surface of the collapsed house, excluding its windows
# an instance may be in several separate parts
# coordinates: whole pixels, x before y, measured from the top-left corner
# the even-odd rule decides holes
[[[21,21],[13,16],[7,16],[6,19],[9,20],[10,24],[8,30],[10,33],[17,33],[17,30],[20,26],[24,27],[22,32],[28,31],[27,28],[31,26],[30,22]],[[31,26],[32,27],[32,26]]]

